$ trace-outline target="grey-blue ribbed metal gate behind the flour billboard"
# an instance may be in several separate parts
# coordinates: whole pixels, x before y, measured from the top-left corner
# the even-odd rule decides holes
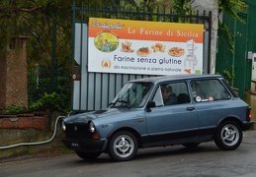
[[[72,74],[72,106],[75,112],[104,109],[112,101],[114,96],[129,80],[152,77],[152,75],[134,74],[111,74],[111,73],[91,73],[88,72],[88,42],[87,24],[90,17],[123,19],[136,21],[204,24],[204,54],[203,67],[205,73],[209,73],[210,46],[212,13],[200,14],[188,12],[187,15],[179,16],[168,9],[139,9],[124,5],[93,7],[91,1],[85,6],[73,4],[73,74]],[[79,33],[80,37],[77,37]]]

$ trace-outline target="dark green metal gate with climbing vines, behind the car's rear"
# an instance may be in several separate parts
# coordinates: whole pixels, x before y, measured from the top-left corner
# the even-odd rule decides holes
[[[239,96],[244,98],[244,91],[250,89],[251,60],[247,59],[247,14],[240,13],[239,17],[245,23],[234,21],[227,14],[223,15],[222,24],[227,29],[220,26],[218,30],[215,68],[216,73],[223,75],[231,87],[239,89]],[[228,39],[229,35],[231,38]]]

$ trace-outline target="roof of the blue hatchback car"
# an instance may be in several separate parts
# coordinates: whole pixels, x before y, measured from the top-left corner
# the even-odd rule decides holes
[[[133,82],[161,83],[161,82],[176,81],[176,80],[209,79],[209,78],[222,78],[222,76],[215,75],[215,74],[166,75],[166,76],[158,76],[158,77],[150,77],[150,78],[141,78],[141,79],[131,80],[129,82],[130,83],[133,83]]]

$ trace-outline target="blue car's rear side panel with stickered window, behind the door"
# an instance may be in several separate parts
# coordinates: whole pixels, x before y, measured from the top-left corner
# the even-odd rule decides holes
[[[199,139],[207,141],[213,138],[220,120],[233,115],[233,100],[230,92],[217,79],[194,80],[190,85],[199,116]]]

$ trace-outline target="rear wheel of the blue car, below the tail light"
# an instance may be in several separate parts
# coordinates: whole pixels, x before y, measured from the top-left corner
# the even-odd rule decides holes
[[[219,125],[214,138],[215,145],[223,150],[232,150],[238,148],[242,142],[243,133],[240,126],[227,121]]]

